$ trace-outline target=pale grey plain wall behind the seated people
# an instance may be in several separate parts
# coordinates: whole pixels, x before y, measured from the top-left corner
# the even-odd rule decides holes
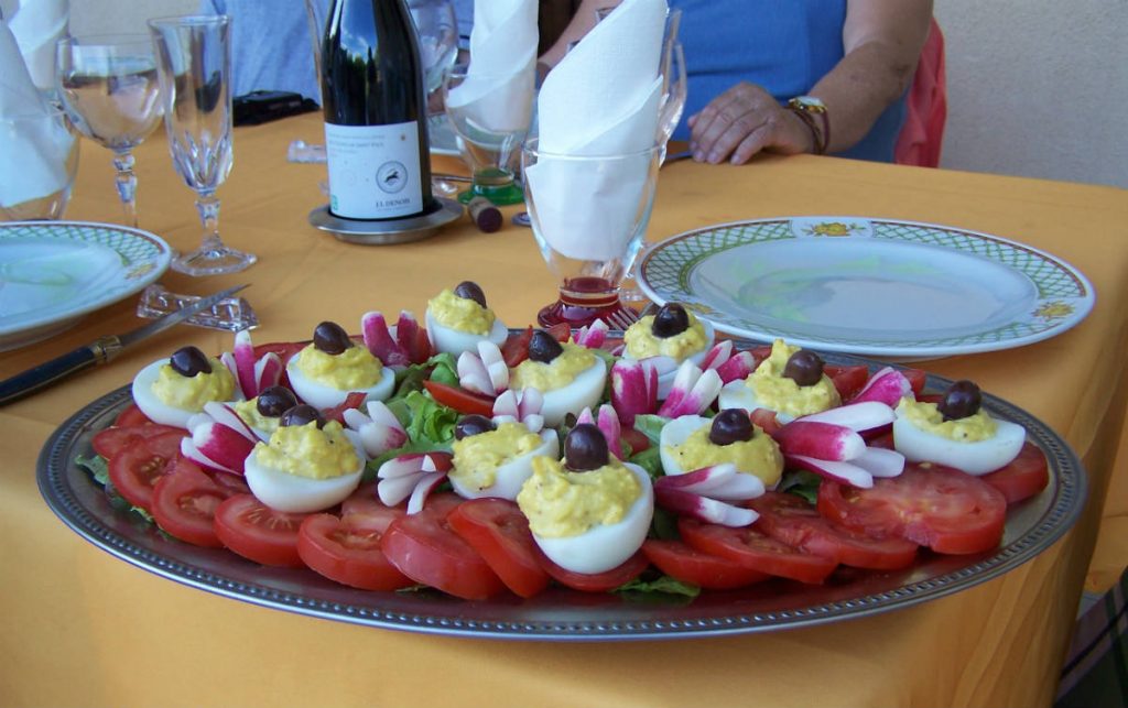
[[[0,0],[6,15],[16,5]],[[147,17],[196,7],[71,0],[71,28],[140,32]],[[943,167],[1128,188],[1128,0],[935,0],[935,14],[948,60]]]

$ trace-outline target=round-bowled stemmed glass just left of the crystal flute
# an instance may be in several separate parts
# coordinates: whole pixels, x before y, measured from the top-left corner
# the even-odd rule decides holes
[[[79,132],[114,153],[125,220],[138,225],[133,149],[160,121],[160,90],[152,42],[146,35],[91,35],[60,39],[55,88]]]

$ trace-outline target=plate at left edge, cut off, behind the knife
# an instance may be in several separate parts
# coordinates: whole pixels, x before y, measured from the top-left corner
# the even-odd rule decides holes
[[[0,223],[0,351],[55,335],[140,292],[171,250],[138,229],[81,221]]]

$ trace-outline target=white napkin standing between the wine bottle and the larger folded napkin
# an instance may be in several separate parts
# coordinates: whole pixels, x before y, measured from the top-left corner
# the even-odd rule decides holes
[[[525,131],[536,82],[537,0],[474,3],[470,64],[447,103],[491,132]]]

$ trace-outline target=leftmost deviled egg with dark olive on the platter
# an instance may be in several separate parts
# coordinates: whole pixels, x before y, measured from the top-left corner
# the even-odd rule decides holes
[[[133,378],[133,401],[153,423],[188,426],[210,401],[241,398],[235,375],[218,359],[194,346],[180,347]]]

